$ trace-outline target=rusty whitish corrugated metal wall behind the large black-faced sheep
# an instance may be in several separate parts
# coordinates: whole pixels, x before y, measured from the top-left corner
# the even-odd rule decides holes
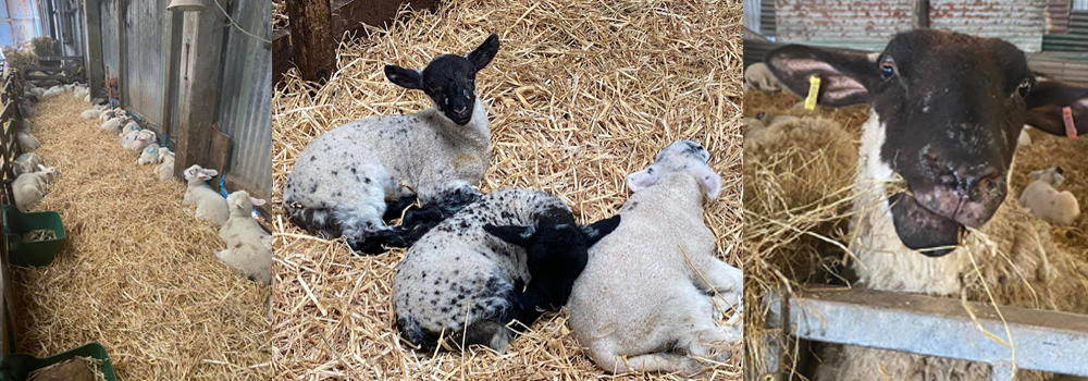
[[[912,1],[871,0],[829,3],[777,0],[779,41],[880,50],[913,23]],[[932,0],[930,23],[985,37],[999,37],[1028,52],[1042,48],[1046,0]]]

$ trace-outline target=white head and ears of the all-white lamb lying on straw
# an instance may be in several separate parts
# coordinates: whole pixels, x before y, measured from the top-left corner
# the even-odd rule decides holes
[[[706,164],[710,160],[702,145],[691,140],[679,140],[662,149],[653,165],[627,176],[631,192],[651,187],[671,173],[689,173],[698,180],[703,194],[710,199],[721,192],[721,176]]]

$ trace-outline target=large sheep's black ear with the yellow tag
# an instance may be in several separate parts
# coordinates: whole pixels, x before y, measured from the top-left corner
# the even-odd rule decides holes
[[[767,53],[767,67],[786,87],[802,97],[809,78],[820,78],[820,106],[842,107],[869,102],[869,81],[879,79],[876,56],[788,45]]]

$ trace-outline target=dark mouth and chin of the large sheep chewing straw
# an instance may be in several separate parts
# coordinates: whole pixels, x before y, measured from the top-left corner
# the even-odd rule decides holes
[[[965,234],[965,229],[952,219],[926,209],[907,193],[888,198],[895,233],[906,247],[926,256],[941,257],[952,253]]]

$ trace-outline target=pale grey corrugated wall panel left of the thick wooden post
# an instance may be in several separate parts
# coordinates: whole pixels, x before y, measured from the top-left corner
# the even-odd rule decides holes
[[[166,90],[166,36],[172,14],[169,0],[127,1],[124,17],[125,60],[122,90],[128,109],[145,121],[163,127],[163,101]]]

